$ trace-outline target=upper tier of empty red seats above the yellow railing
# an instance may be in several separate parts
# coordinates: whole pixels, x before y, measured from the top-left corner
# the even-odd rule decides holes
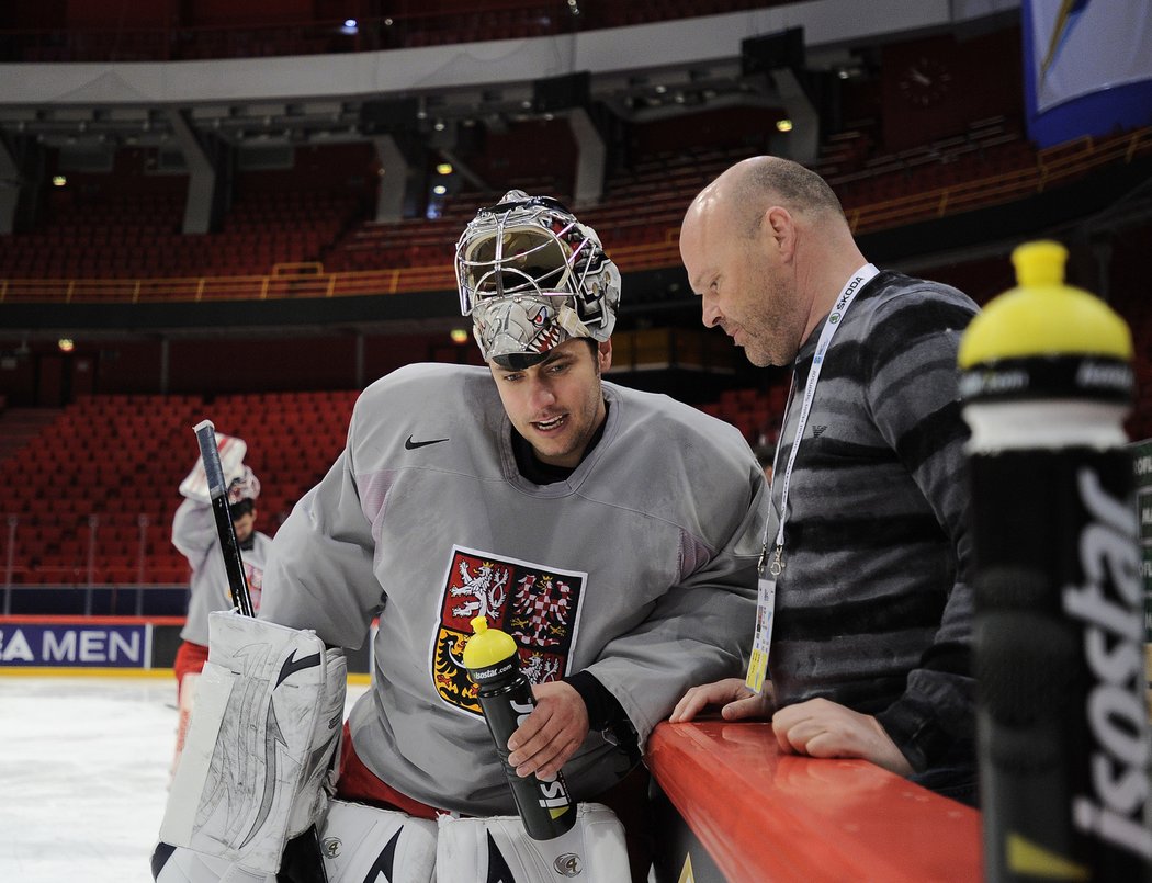
[[[613,153],[602,199],[577,206],[581,219],[626,272],[677,266],[685,206],[732,162],[767,150],[774,115],[721,108],[680,116],[674,127],[631,124],[627,144]],[[858,117],[828,134],[813,166],[861,234],[1011,203],[1152,154],[1152,129],[1038,152],[1018,117],[993,114],[955,125],[890,151],[876,121]],[[52,191],[35,229],[0,236],[0,303],[450,289],[454,244],[477,207],[511,188],[570,201],[575,160],[562,121],[525,122],[488,132],[486,142],[468,158],[470,183],[444,197],[437,218],[371,220],[376,157],[363,142],[300,149],[293,169],[241,174],[219,230],[202,235],[180,231],[187,177],[149,175],[154,157],[122,149],[113,174],[75,176]],[[546,174],[550,166],[558,172]]]

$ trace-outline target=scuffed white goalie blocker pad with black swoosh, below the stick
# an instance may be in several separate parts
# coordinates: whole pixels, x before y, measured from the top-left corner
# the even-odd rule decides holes
[[[217,611],[160,839],[257,873],[321,820],[347,670],[312,631]]]

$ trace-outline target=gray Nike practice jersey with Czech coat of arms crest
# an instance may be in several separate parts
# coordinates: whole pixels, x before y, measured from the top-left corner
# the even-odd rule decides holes
[[[688,687],[743,672],[760,467],[725,423],[604,390],[601,440],[540,486],[516,469],[486,368],[401,368],[359,397],[343,454],[276,534],[262,617],[356,647],[380,614],[350,726],[361,760],[409,797],[514,812],[462,668],[475,616],[513,635],[536,683],[591,672],[642,745]],[[619,756],[590,733],[564,767],[574,797],[614,784]]]

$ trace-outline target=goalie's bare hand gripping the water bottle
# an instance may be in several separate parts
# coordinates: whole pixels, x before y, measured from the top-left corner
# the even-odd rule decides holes
[[[588,736],[584,700],[562,680],[533,684],[536,709],[508,739],[508,763],[516,775],[547,778],[560,771]]]

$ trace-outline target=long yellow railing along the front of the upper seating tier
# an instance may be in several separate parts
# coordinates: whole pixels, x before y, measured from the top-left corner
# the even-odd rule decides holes
[[[1040,151],[1034,166],[847,210],[855,234],[871,233],[1044,192],[1113,162],[1152,153],[1152,128],[1097,142],[1081,138]],[[685,200],[687,204],[687,200]],[[660,238],[608,251],[626,271],[680,262],[679,226],[658,227]],[[445,241],[445,254],[452,242]],[[295,273],[286,272],[295,269]],[[306,272],[305,272],[306,271]],[[317,272],[319,271],[319,272]],[[324,273],[318,264],[273,268],[271,275],[185,279],[0,279],[0,303],[156,303],[353,297],[444,291],[455,287],[448,264]]]

